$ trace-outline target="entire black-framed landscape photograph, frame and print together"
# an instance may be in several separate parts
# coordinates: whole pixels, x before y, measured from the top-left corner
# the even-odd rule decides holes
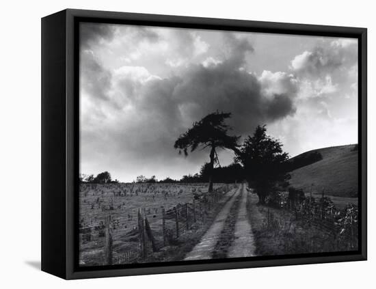
[[[366,260],[366,29],[42,18],[42,270]]]

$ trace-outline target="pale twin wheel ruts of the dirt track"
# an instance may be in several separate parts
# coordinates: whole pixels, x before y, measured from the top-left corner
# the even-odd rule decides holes
[[[234,206],[235,200],[240,197],[238,211],[235,216],[230,215],[230,210]],[[228,201],[224,207],[219,211],[217,217],[209,230],[204,234],[200,243],[193,247],[192,251],[187,253],[184,260],[204,260],[212,259],[213,251],[217,242],[221,238],[221,234],[225,231],[225,223],[228,218],[237,218],[234,223],[234,238],[231,245],[226,248],[228,258],[236,257],[250,257],[254,256],[254,238],[252,234],[252,227],[247,217],[247,191],[245,184],[239,184],[239,188],[235,193],[228,196]]]

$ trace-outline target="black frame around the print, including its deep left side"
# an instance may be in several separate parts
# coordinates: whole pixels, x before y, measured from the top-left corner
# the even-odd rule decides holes
[[[357,38],[360,180],[358,251],[79,267],[78,194],[75,192],[79,184],[77,27],[80,21]],[[42,18],[42,271],[64,279],[81,279],[366,260],[366,57],[365,28],[70,9]]]

